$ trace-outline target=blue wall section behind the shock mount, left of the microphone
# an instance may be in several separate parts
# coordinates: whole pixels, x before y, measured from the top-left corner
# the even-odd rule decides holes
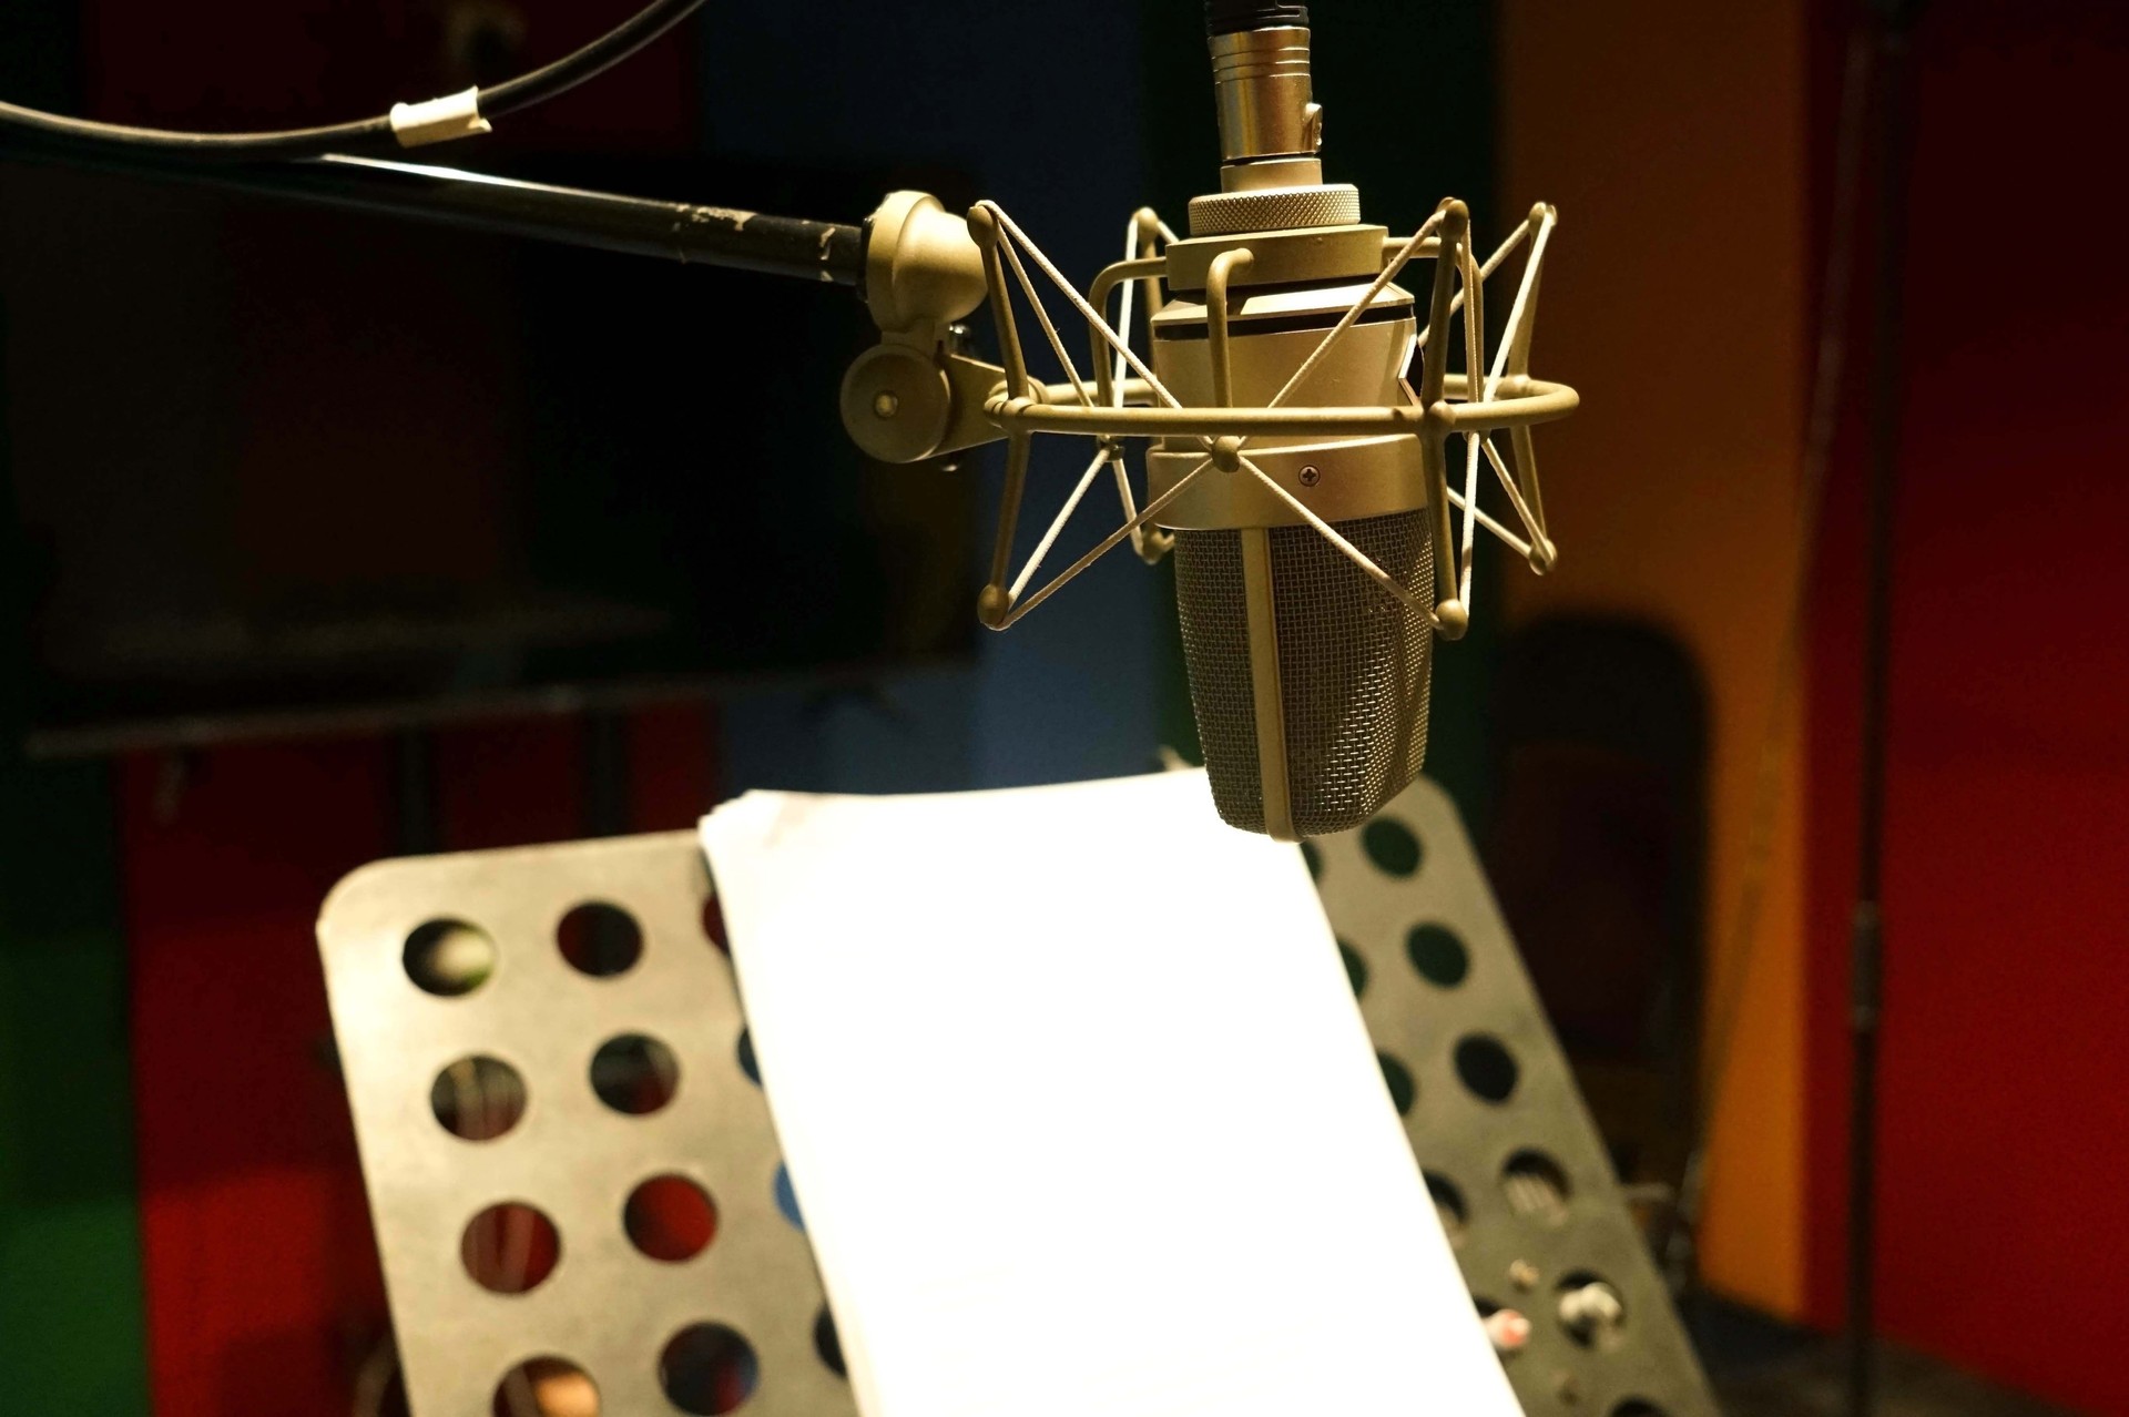
[[[720,6],[703,26],[711,149],[969,172],[1084,285],[1122,255],[1126,219],[1152,196],[1141,160],[1141,6],[926,0],[920,36],[898,23],[905,13],[858,0]],[[1211,153],[1207,172],[1209,164]],[[988,347],[988,319],[977,338]],[[820,406],[835,417],[832,389]],[[1037,449],[1024,547],[1088,451],[1082,440]],[[984,485],[986,545],[1001,464],[999,449],[967,464]],[[1052,564],[1069,564],[1118,515],[1113,496],[1088,496]],[[973,670],[905,674],[858,696],[735,700],[724,785],[920,791],[1150,770],[1162,621],[1173,615],[1162,598],[1162,579],[1126,549],[1013,630],[986,632]]]

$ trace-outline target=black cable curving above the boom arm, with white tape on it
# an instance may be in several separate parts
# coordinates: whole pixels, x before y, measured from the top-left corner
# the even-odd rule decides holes
[[[651,0],[630,19],[607,30],[571,55],[481,89],[481,117],[496,119],[566,94],[585,79],[600,74],[637,49],[688,19],[703,0]],[[379,115],[324,128],[287,128],[281,132],[175,132],[166,128],[128,128],[94,119],[64,117],[0,102],[0,132],[28,132],[87,147],[166,157],[204,157],[258,162],[266,157],[319,157],[324,153],[398,147],[392,117]]]

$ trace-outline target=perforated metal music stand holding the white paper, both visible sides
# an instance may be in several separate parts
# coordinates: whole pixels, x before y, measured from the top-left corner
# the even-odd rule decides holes
[[[1524,1411],[1712,1417],[1450,800],[1420,781],[1309,853],[1465,1279],[1482,1311],[1529,1317],[1503,1360]],[[564,919],[585,904],[632,921],[634,951],[564,953]],[[707,906],[692,832],[381,862],[326,902],[326,983],[417,1417],[496,1411],[498,1383],[532,1360],[581,1370],[609,1415],[690,1411],[669,1398],[662,1355],[703,1326],[743,1340],[752,1372],[696,1394],[698,1411],[726,1411],[752,1381],[747,1417],[854,1413]],[[600,1096],[600,1051],[622,1038],[671,1053],[677,1087],[656,1111]],[[524,1108],[466,1140],[447,1119],[481,1057],[515,1072]],[[698,1255],[632,1245],[624,1208],[654,1177],[713,1198]],[[551,1272],[522,1294],[468,1270],[468,1226],[498,1202],[537,1208],[558,1236]],[[1597,1283],[1616,1315],[1563,1315]]]

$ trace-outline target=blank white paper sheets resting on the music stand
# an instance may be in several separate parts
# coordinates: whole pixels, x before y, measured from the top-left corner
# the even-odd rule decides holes
[[[703,843],[867,1417],[1518,1413],[1307,866],[1203,774]]]

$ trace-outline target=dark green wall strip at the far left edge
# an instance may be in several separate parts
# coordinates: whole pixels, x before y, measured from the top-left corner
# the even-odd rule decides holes
[[[79,111],[79,11],[11,0],[0,91]],[[0,1411],[149,1411],[111,770],[19,753],[34,547],[13,517],[0,309]]]

